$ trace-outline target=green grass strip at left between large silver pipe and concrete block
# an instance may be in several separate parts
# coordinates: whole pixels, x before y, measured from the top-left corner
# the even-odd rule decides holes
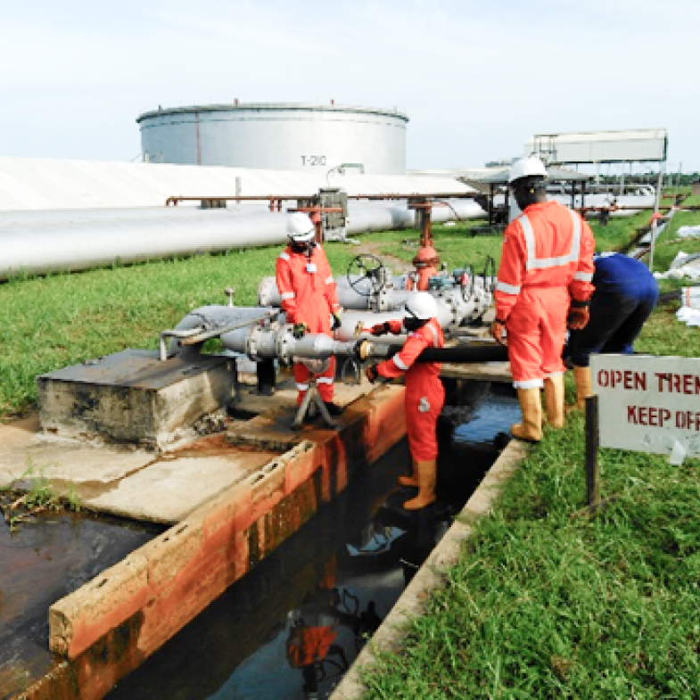
[[[0,284],[0,416],[36,407],[37,375],[124,350],[155,350],[161,330],[205,304],[257,303],[259,280],[275,274],[278,248],[230,251],[130,267],[15,279]],[[356,251],[328,246],[344,270]]]

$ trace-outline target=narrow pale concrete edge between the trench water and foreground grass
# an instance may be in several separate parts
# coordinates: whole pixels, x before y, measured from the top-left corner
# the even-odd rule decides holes
[[[366,692],[362,676],[371,670],[377,655],[400,651],[406,635],[406,622],[424,613],[431,591],[443,585],[446,572],[457,564],[465,539],[472,533],[473,523],[490,512],[494,501],[529,451],[529,445],[525,442],[513,440],[508,443],[438,546],[432,550],[396,605],[391,608],[391,613],[386,616],[382,626],[376,630],[370,642],[334,689],[330,700],[361,698]]]

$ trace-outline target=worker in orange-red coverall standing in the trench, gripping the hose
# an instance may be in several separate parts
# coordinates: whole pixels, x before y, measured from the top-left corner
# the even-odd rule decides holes
[[[417,486],[416,498],[404,503],[407,510],[418,510],[435,500],[438,416],[445,403],[445,389],[440,381],[439,362],[416,362],[425,348],[444,345],[442,329],[436,318],[437,302],[428,292],[416,292],[408,297],[404,307],[403,324],[387,321],[372,327],[373,335],[408,331],[408,341],[392,358],[366,368],[366,376],[375,382],[379,376],[406,375],[406,432],[413,458],[413,474],[399,477],[403,486]]]

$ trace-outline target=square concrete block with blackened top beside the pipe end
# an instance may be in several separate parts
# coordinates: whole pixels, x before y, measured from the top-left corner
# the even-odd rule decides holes
[[[163,448],[231,398],[235,359],[161,362],[151,350],[123,350],[38,377],[45,432],[103,435]]]

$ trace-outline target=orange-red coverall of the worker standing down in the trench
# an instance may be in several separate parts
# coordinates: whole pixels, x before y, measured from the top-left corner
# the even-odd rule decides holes
[[[392,334],[401,333],[401,322],[389,322]],[[431,318],[392,358],[377,365],[377,372],[385,377],[406,374],[406,432],[411,456],[416,462],[429,462],[438,456],[438,437],[435,432],[438,416],[445,403],[445,388],[440,381],[439,362],[416,362],[425,348],[441,348],[445,344],[442,329],[436,318]]]

